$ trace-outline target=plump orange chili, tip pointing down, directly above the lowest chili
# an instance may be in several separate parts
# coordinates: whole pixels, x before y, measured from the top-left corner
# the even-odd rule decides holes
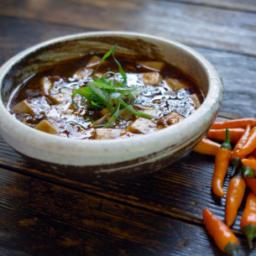
[[[230,180],[227,187],[226,196],[226,223],[230,227],[236,220],[238,208],[243,201],[244,191],[246,189],[245,181],[243,180],[242,171]]]

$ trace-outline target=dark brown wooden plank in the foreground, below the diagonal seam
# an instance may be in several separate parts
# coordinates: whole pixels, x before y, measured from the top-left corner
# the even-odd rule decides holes
[[[4,169],[0,187],[1,255],[225,255],[204,227]]]

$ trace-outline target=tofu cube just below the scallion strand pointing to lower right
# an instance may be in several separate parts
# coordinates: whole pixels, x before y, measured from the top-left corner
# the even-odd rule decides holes
[[[153,133],[156,130],[156,124],[153,120],[147,118],[137,118],[131,123],[127,130],[131,133]]]

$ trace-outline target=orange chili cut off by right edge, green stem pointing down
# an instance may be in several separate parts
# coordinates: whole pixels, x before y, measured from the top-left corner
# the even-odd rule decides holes
[[[256,237],[256,196],[252,192],[247,196],[240,227],[248,238],[249,247],[253,248],[253,238]]]

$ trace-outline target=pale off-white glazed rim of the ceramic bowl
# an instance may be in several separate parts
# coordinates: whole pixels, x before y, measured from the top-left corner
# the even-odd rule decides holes
[[[42,133],[34,128],[29,128],[24,123],[20,123],[16,118],[8,112],[7,108],[4,107],[2,97],[0,101],[0,127],[5,130],[5,132],[13,133],[13,138],[18,139],[18,141],[25,141],[27,144],[34,144],[35,148],[47,148],[47,144],[51,144],[50,153],[65,152],[70,154],[79,155],[92,155],[100,152],[104,152],[107,155],[119,155],[128,154],[132,150],[140,152],[143,154],[144,151],[150,150],[155,151],[154,148],[160,148],[166,144],[167,140],[172,139],[171,144],[178,144],[179,138],[182,143],[184,134],[189,128],[190,133],[196,136],[197,131],[201,128],[203,123],[210,123],[217,116],[217,111],[222,103],[223,97],[223,84],[222,79],[219,76],[216,68],[206,60],[201,54],[196,52],[196,50],[191,49],[185,44],[180,44],[174,40],[164,39],[158,36],[153,36],[149,34],[140,34],[134,32],[123,32],[123,31],[98,31],[98,32],[88,32],[81,34],[71,34],[56,39],[50,39],[43,43],[36,44],[27,50],[22,51],[18,55],[13,56],[12,59],[8,60],[0,68],[0,89],[2,90],[3,78],[11,70],[12,66],[22,60],[25,56],[36,52],[37,50],[44,48],[50,44],[55,44],[63,42],[66,40],[73,39],[84,39],[91,36],[133,36],[140,39],[154,39],[157,41],[164,41],[167,44],[181,48],[186,54],[191,55],[205,70],[206,76],[209,82],[209,88],[204,102],[201,104],[196,112],[191,114],[190,117],[185,118],[182,122],[176,123],[174,126],[162,129],[160,131],[145,134],[143,136],[136,136],[133,138],[123,138],[123,139],[107,139],[107,140],[80,140],[76,138],[63,138],[58,136],[53,136],[48,133]],[[204,122],[201,117],[206,117]],[[205,131],[206,132],[206,131]],[[29,134],[29,136],[28,136]],[[166,139],[169,138],[169,139]],[[111,142],[111,143],[110,143]],[[185,142],[185,141],[184,141]],[[169,141],[170,145],[170,141]],[[12,146],[12,145],[11,145]],[[181,147],[181,146],[180,146]],[[40,159],[40,156],[38,157]],[[128,159],[127,157],[123,159]],[[122,159],[120,159],[121,161]]]

